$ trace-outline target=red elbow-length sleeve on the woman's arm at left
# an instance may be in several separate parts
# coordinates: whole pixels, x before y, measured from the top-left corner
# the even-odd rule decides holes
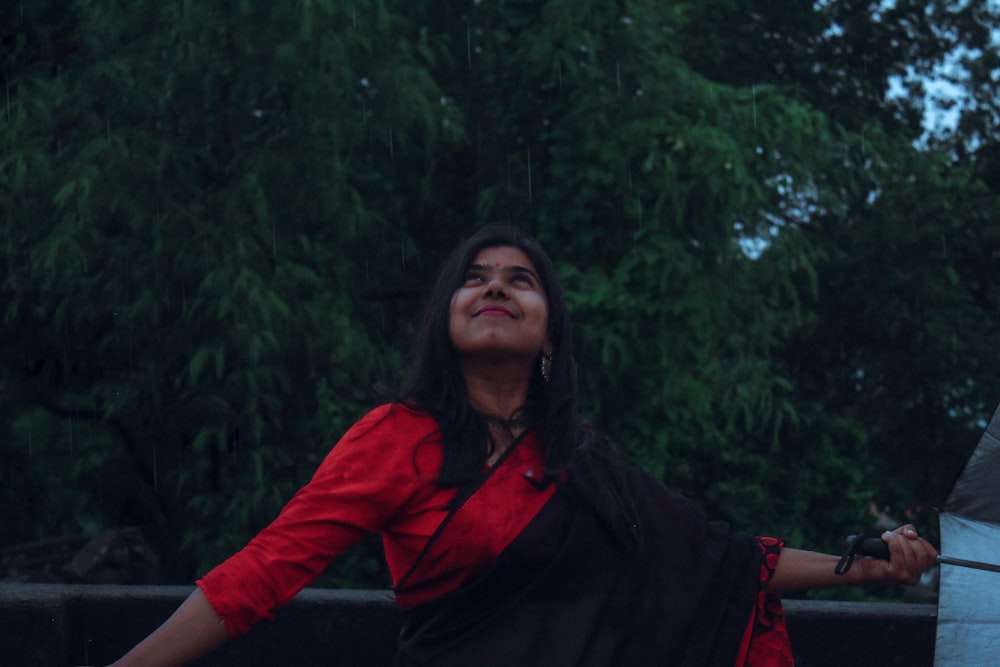
[[[312,582],[330,560],[433,492],[440,448],[426,415],[381,406],[357,422],[278,518],[198,580],[229,634],[240,635]]]

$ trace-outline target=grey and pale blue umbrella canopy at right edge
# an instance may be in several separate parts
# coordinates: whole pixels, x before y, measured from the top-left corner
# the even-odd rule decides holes
[[[941,549],[957,559],[1000,562],[1000,408],[948,495]],[[941,567],[935,667],[981,667],[1000,660],[1000,579]]]

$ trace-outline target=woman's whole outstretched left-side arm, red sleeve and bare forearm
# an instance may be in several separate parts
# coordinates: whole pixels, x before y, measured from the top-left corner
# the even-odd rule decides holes
[[[174,615],[113,667],[184,665],[205,655],[271,618],[332,558],[365,533],[380,530],[408,502],[411,487],[427,487],[414,471],[414,448],[398,446],[421,442],[414,418],[400,425],[386,419],[390,414],[384,406],[357,422],[278,518],[199,579]],[[416,425],[429,433],[437,428],[426,417]],[[432,463],[427,470],[436,471],[438,459]]]

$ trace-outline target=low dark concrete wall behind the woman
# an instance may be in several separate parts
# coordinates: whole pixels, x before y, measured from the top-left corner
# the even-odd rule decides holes
[[[0,584],[0,667],[103,665],[166,619],[183,586]],[[930,667],[936,608],[785,603],[798,667]],[[388,591],[305,590],[202,667],[392,665],[398,620]]]

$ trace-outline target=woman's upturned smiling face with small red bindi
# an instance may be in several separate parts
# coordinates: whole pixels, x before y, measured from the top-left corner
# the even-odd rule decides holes
[[[466,268],[448,311],[460,358],[534,361],[548,340],[548,300],[534,264],[513,246],[484,248]]]

